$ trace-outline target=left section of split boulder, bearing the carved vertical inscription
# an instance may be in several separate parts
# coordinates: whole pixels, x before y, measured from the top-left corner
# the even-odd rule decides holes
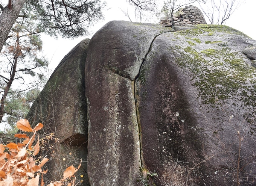
[[[141,185],[134,79],[154,38],[172,31],[111,21],[91,38],[85,65],[91,185]]]

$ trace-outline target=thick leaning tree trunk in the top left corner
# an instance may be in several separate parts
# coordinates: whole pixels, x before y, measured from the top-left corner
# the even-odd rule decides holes
[[[0,15],[0,51],[25,2],[26,0],[13,0],[11,9],[6,6]]]

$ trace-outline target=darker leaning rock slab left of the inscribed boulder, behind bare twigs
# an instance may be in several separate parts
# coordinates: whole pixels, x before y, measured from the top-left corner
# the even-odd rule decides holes
[[[84,96],[84,67],[89,41],[81,41],[61,60],[27,114],[32,126],[42,122],[43,130],[54,133],[54,138],[59,139],[53,139],[50,146],[45,147],[44,154],[51,158],[46,163],[49,173],[44,180],[60,180],[66,165],[77,167],[82,159],[78,175],[84,175],[81,185],[89,185],[86,172],[87,105]],[[80,181],[81,177],[77,178]]]

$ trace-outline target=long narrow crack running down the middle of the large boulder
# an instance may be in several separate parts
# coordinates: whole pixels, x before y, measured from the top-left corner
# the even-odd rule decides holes
[[[136,91],[136,81],[137,79],[139,78],[140,76],[140,71],[142,69],[142,66],[148,56],[148,54],[150,53],[151,49],[152,49],[152,45],[155,41],[155,39],[160,36],[162,34],[158,34],[154,37],[154,39],[152,40],[151,44],[150,44],[150,47],[148,49],[148,52],[146,53],[143,61],[142,61],[142,64],[140,65],[140,70],[139,70],[139,73],[137,74],[137,76],[135,77],[135,79],[133,80],[134,81],[134,101],[135,101],[135,107],[136,107],[136,116],[137,116],[137,124],[138,124],[138,128],[139,128],[139,141],[140,141],[140,166],[141,168],[143,168],[143,154],[142,154],[142,131],[141,131],[141,125],[140,125],[140,113],[139,113],[139,95],[137,94],[137,91]]]

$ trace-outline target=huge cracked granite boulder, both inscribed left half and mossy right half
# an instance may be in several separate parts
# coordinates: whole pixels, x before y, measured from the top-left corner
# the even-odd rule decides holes
[[[255,44],[221,25],[102,27],[85,64],[90,184],[253,185]]]

